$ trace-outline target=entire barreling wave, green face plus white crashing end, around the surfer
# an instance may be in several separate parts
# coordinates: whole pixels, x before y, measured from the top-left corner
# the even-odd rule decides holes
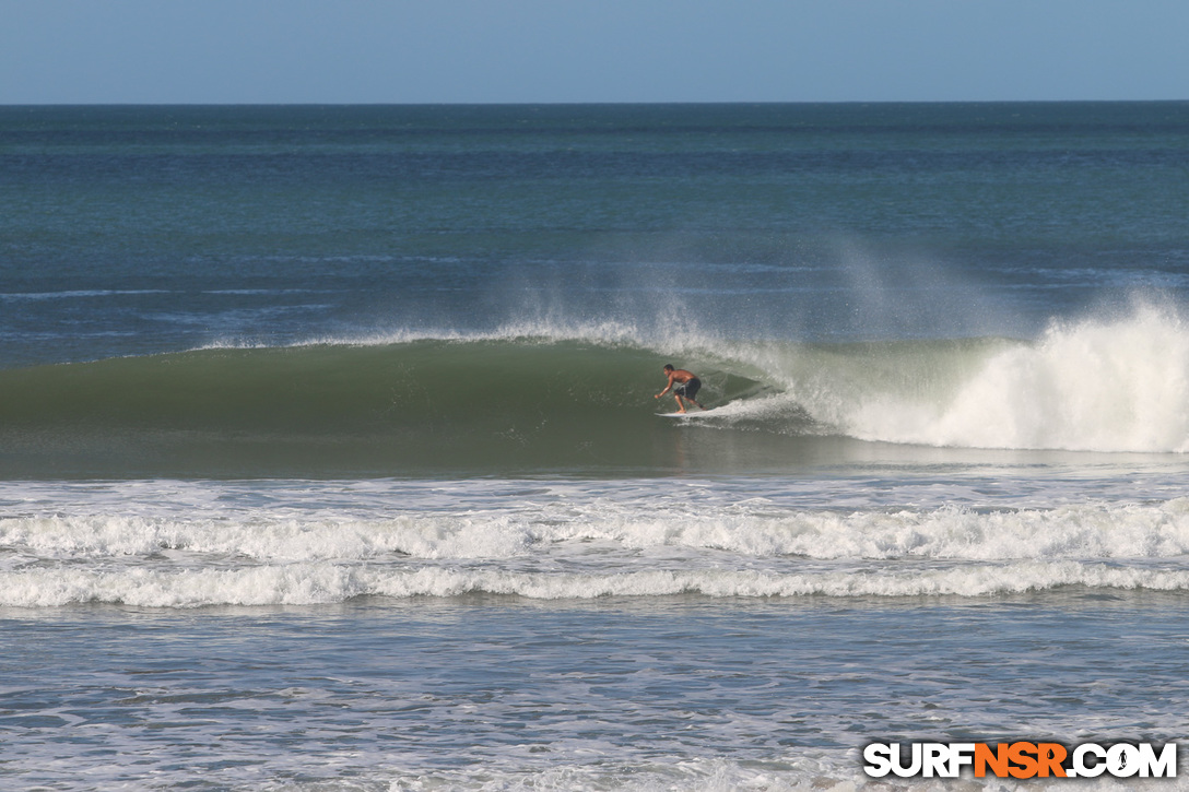
[[[667,351],[661,351],[667,350]],[[699,420],[658,420],[672,358]],[[1183,453],[1189,331],[1141,308],[1007,339],[474,338],[206,348],[0,372],[8,476],[795,469],[893,444]],[[861,442],[860,442],[861,441]]]

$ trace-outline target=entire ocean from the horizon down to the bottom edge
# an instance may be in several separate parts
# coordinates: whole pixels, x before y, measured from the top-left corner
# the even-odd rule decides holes
[[[7,106],[0,207],[0,788],[1187,786],[863,771],[1189,741],[1187,102]]]

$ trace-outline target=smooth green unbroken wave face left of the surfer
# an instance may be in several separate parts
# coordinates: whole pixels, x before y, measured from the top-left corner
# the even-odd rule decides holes
[[[647,474],[713,467],[722,436],[691,444],[690,427],[655,415],[675,409],[667,396],[653,398],[665,385],[665,362],[642,348],[580,342],[433,340],[201,350],[4,371],[0,473]],[[759,388],[718,371],[703,376],[711,401]]]

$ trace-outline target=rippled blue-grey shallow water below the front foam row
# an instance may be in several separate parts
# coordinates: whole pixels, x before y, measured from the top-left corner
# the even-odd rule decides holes
[[[141,765],[166,785],[201,773],[200,788],[862,788],[856,735],[1163,742],[1183,725],[1184,667],[1151,661],[1184,641],[1171,595],[484,596],[5,617],[43,649],[40,671],[8,684],[70,690],[10,742],[20,758],[6,772],[51,787],[83,771],[136,782]]]

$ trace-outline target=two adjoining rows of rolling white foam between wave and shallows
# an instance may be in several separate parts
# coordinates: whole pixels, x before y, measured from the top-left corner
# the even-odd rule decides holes
[[[394,489],[389,508],[411,497]],[[0,606],[1189,590],[1184,498],[836,511],[650,492],[556,492],[548,502],[529,494],[512,509],[446,501],[388,517],[333,509],[13,516],[0,520]]]

